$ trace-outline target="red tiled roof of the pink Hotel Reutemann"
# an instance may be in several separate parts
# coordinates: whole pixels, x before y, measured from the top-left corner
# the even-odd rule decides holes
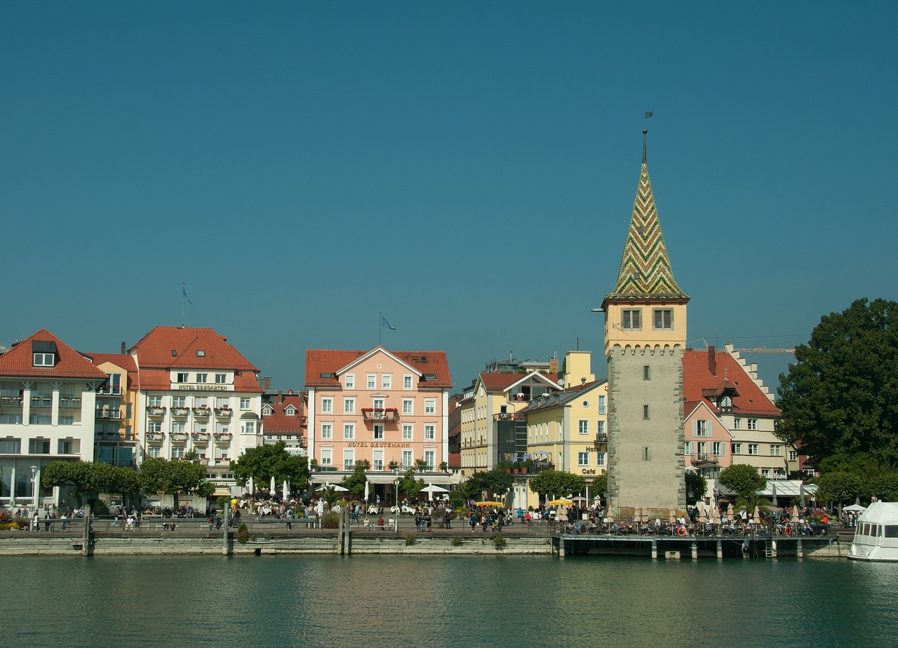
[[[336,372],[354,363],[363,355],[367,355],[377,349],[368,351],[337,351],[333,349],[306,349],[305,350],[305,386],[306,387],[339,387],[339,379],[334,377]],[[391,351],[381,346],[385,353],[394,355],[403,363],[408,364],[421,373],[418,385],[422,387],[447,388],[452,387],[452,378],[449,375],[449,362],[446,360],[445,351]],[[436,378],[424,380],[424,375],[434,374]],[[324,377],[324,374],[327,374]]]

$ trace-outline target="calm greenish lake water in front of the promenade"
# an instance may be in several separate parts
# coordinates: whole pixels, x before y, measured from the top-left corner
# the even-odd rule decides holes
[[[4,557],[4,645],[893,645],[898,564]]]

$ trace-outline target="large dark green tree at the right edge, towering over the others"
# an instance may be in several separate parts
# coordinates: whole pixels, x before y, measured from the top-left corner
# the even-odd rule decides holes
[[[779,438],[814,462],[867,452],[898,465],[898,303],[824,316],[795,355],[779,376]]]

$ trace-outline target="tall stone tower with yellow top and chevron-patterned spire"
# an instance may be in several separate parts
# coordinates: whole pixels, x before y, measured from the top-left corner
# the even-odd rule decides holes
[[[608,360],[608,492],[621,508],[657,513],[686,507],[683,460],[682,352],[686,304],[674,280],[648,180],[642,171],[621,269],[605,295]]]

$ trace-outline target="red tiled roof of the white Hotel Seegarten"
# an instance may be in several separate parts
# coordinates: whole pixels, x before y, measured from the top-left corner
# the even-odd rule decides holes
[[[212,328],[155,327],[129,351],[137,354],[141,390],[170,389],[172,369],[221,369],[234,372],[234,391],[261,391],[259,370]]]

